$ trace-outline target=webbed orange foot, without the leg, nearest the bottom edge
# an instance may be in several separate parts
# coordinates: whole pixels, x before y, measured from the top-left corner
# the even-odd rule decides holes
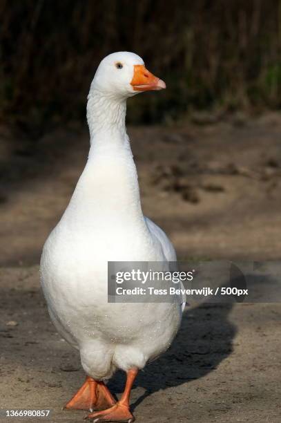
[[[90,413],[85,417],[86,420],[93,420],[94,423],[98,422],[119,422],[119,423],[132,423],[135,417],[130,413],[128,406],[124,406],[117,402],[114,406],[107,410],[98,413]]]

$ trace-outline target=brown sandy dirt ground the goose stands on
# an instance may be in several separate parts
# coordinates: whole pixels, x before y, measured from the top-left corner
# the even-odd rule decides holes
[[[281,116],[199,121],[129,128],[144,213],[180,259],[280,259]],[[88,133],[68,126],[36,147],[3,128],[0,138],[0,408],[82,422],[85,412],[61,411],[84,374],[48,319],[38,263],[86,162]],[[280,321],[278,303],[188,308],[172,348],[137,378],[137,422],[279,423]],[[123,383],[117,374],[113,393]]]

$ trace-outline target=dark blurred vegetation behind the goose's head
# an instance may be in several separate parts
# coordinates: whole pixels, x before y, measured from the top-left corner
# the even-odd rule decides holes
[[[84,120],[102,57],[130,50],[166,80],[130,104],[134,123],[194,110],[281,106],[281,0],[0,0],[0,119]]]

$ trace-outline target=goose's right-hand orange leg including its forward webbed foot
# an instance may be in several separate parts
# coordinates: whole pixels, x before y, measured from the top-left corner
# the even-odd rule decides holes
[[[100,411],[99,413],[90,413],[85,418],[87,420],[93,420],[94,423],[97,422],[126,422],[132,423],[135,420],[135,417],[130,412],[130,391],[132,389],[133,383],[137,376],[137,368],[132,368],[127,372],[126,386],[124,393],[122,394],[121,399],[114,405],[108,408],[107,410]]]

